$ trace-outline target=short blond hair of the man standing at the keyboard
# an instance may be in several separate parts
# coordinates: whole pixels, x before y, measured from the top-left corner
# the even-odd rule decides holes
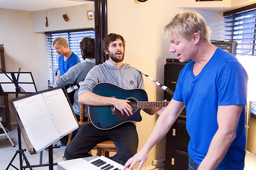
[[[168,25],[163,28],[166,38],[181,35],[190,40],[194,33],[200,34],[200,40],[209,41],[210,29],[206,25],[204,18],[197,12],[183,12],[175,15]]]

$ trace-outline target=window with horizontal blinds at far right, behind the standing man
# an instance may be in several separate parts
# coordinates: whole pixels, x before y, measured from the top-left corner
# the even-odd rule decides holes
[[[225,41],[236,41],[236,56],[256,55],[256,4],[224,13]]]

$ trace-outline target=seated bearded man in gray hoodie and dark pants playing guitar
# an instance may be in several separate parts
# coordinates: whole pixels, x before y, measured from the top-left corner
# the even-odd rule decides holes
[[[115,97],[99,96],[91,89],[100,82],[108,82],[124,89],[145,88],[142,74],[136,68],[123,63],[125,40],[119,34],[108,34],[103,40],[103,54],[106,62],[93,67],[79,89],[79,102],[92,106],[113,105],[122,115],[131,116],[132,108],[129,101]],[[162,113],[162,108],[145,110],[147,113]],[[93,113],[90,113],[90,115]],[[88,152],[98,143],[111,139],[115,143],[117,153],[111,159],[124,165],[137,153],[138,134],[134,122],[125,122],[111,129],[98,129],[92,123],[79,128],[77,135],[67,146],[66,159],[91,156]]]

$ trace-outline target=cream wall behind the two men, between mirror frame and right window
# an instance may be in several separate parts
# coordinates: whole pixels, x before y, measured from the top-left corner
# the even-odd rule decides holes
[[[161,35],[162,28],[175,14],[188,9],[177,8],[171,0],[148,0],[135,4],[133,0],[108,1],[108,33],[121,34],[126,42],[125,62],[131,64],[150,77],[163,83],[166,58],[176,58],[169,53],[169,42]],[[212,40],[223,40],[222,13],[198,11],[212,30]],[[144,77],[149,101],[163,101],[163,90]],[[137,123],[139,150],[148,138],[157,116],[141,113],[143,120]],[[153,159],[165,158],[165,138],[149,153],[144,165]]]

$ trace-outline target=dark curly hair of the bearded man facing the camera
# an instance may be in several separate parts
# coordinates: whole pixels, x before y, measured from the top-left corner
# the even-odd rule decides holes
[[[108,51],[108,46],[111,42],[116,41],[117,39],[120,39],[122,41],[123,47],[124,47],[124,53],[125,53],[125,39],[122,37],[122,35],[119,34],[114,34],[114,33],[110,33],[108,34],[107,37],[104,38],[103,42],[102,42],[102,50],[103,50],[103,55],[105,57],[106,60],[109,59],[108,54],[105,53],[105,51]]]

